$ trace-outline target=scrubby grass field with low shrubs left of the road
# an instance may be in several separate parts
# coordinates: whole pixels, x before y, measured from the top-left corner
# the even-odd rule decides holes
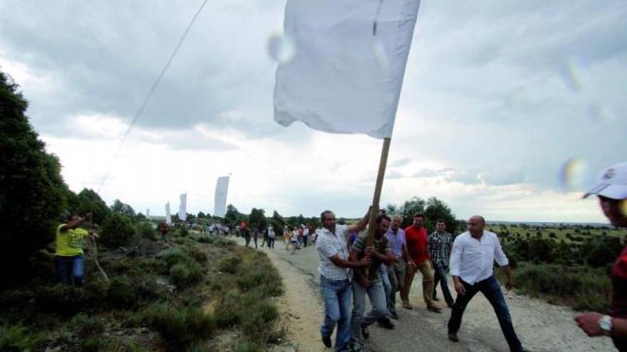
[[[191,234],[101,249],[106,283],[86,255],[87,283],[39,276],[1,292],[0,351],[265,351],[283,331],[281,277],[261,252]]]

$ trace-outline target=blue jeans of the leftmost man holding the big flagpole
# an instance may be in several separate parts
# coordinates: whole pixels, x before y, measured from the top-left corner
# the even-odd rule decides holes
[[[320,275],[320,289],[324,300],[324,321],[320,327],[323,337],[331,336],[338,325],[336,351],[348,351],[351,341],[351,282],[330,280]]]

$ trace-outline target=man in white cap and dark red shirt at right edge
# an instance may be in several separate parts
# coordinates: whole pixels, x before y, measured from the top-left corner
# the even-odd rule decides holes
[[[584,196],[596,194],[603,214],[616,227],[627,228],[627,162],[601,173],[596,185]],[[607,315],[587,312],[575,317],[588,336],[610,336],[618,351],[627,351],[627,247],[612,267],[612,295]]]

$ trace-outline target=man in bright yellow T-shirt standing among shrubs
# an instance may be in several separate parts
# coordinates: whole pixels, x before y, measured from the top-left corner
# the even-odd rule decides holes
[[[87,213],[84,218],[74,215],[66,219],[67,223],[62,223],[56,228],[56,270],[61,277],[61,282],[66,286],[71,286],[73,282],[74,285],[80,287],[85,283],[85,261],[81,240],[87,236],[98,238],[98,235],[88,233],[87,230],[78,226],[91,218],[91,213]]]

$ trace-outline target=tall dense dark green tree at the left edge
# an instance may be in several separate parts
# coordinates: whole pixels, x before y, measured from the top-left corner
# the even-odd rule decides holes
[[[53,240],[53,226],[68,208],[68,187],[56,156],[26,117],[28,102],[0,72],[0,272],[18,277],[28,254]]]

